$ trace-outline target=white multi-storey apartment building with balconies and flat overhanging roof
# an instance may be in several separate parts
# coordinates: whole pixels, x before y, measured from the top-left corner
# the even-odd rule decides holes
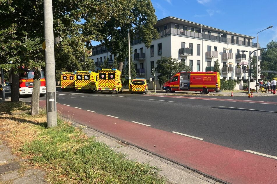
[[[214,62],[218,59],[221,68],[220,78],[248,79],[249,54],[257,47],[256,43],[252,42],[255,37],[231,33],[176,17],[158,20],[155,28],[159,32],[159,38],[153,40],[149,48],[146,48],[140,40],[131,43],[137,77],[154,79],[151,69],[156,67],[156,61],[162,56],[171,56],[178,61],[186,62],[186,65],[195,72],[213,71]],[[256,55],[260,65],[262,60],[260,51],[252,53],[251,56]],[[114,56],[100,44],[92,48],[92,55],[89,58],[93,59],[99,68],[106,58],[112,64]]]

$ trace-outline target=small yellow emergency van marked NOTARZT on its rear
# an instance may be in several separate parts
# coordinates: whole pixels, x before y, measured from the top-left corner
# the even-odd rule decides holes
[[[129,90],[131,91],[131,94],[144,93],[146,95],[148,92],[148,85],[146,79],[136,78],[131,80]]]

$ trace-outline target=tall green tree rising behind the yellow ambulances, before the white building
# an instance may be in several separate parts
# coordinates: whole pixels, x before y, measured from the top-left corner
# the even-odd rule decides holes
[[[112,54],[117,58],[118,69],[122,71],[123,62],[128,57],[128,31],[130,32],[130,43],[133,39],[140,39],[148,48],[152,39],[158,37],[154,28],[157,22],[155,10],[151,0],[111,0],[105,4],[102,17],[93,11],[84,17],[83,33],[94,35],[95,40],[104,43],[106,48],[112,48]]]

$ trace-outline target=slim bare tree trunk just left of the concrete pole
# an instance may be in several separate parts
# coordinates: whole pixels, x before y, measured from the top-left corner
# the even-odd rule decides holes
[[[31,100],[31,115],[38,115],[39,111],[39,91],[40,91],[40,71],[41,67],[39,66],[34,71],[34,83],[33,83],[33,93]]]

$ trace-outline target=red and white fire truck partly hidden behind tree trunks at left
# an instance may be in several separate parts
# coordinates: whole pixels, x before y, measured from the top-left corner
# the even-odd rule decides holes
[[[12,85],[11,71],[9,74],[10,83]],[[19,74],[19,95],[31,95],[33,93],[33,83],[34,83],[34,70],[29,70],[23,68],[23,73]],[[40,72],[40,96],[46,94],[46,82],[44,77],[44,72]]]

